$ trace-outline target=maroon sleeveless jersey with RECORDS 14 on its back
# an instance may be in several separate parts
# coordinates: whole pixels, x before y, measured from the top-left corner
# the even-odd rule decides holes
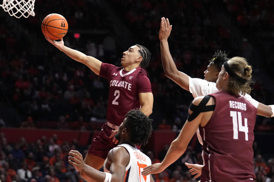
[[[254,125],[257,109],[242,96],[219,91],[208,123],[199,127],[203,139],[205,166],[201,182],[246,182],[253,171]]]

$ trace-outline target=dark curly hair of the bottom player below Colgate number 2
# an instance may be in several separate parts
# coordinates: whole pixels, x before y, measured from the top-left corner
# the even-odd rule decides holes
[[[152,119],[139,109],[132,109],[125,116],[125,127],[130,132],[130,141],[137,145],[147,144],[152,131]]]

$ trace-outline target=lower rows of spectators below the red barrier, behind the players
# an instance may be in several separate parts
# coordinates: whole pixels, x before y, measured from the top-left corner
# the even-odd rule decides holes
[[[169,145],[154,155],[146,151],[152,164],[161,162]],[[274,158],[265,161],[259,154],[254,143],[254,172],[256,182],[271,182],[274,180]],[[68,163],[68,152],[79,150],[83,156],[87,152],[86,146],[79,146],[77,140],[71,143],[61,141],[57,135],[41,137],[36,142],[28,143],[21,138],[17,143],[9,143],[4,133],[0,133],[0,180],[2,182],[83,182],[80,173]],[[201,150],[202,151],[202,150]],[[203,164],[202,153],[195,152],[188,146],[174,164],[159,174],[152,175],[156,182],[196,182],[188,172],[185,162]],[[100,169],[102,170],[102,169]]]

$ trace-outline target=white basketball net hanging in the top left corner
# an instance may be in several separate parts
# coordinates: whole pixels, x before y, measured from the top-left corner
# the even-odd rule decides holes
[[[25,18],[29,15],[34,16],[34,2],[35,0],[3,0],[3,4],[0,5],[4,11],[9,12],[9,15],[20,18]]]

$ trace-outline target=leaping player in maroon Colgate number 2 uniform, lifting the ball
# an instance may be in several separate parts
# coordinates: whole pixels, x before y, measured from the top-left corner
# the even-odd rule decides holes
[[[94,73],[108,80],[106,123],[99,135],[94,138],[84,159],[87,165],[100,169],[108,152],[117,146],[117,140],[115,141],[115,138],[111,137],[117,133],[126,113],[135,108],[140,108],[140,111],[147,116],[152,113],[153,95],[148,72],[144,69],[149,64],[151,53],[146,47],[139,44],[131,46],[123,52],[122,67],[117,67],[102,63],[94,57],[66,47],[63,39],[60,42],[47,37],[46,39],[72,59],[85,64]],[[86,175],[82,173],[81,175],[87,181],[92,181]]]

